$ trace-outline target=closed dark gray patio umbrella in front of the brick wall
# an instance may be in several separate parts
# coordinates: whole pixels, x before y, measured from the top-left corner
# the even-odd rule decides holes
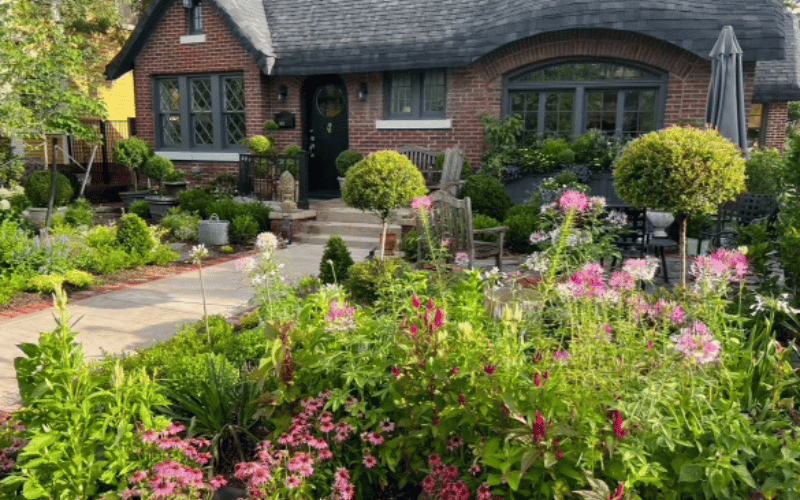
[[[711,49],[711,87],[706,122],[747,155],[742,48],[732,26],[725,26]]]

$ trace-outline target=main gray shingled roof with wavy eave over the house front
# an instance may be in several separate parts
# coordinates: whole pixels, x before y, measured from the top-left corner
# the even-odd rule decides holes
[[[172,1],[153,1],[108,65],[109,78],[133,68]],[[509,42],[580,28],[635,31],[708,59],[729,24],[745,61],[784,58],[781,0],[208,1],[268,74],[466,66]]]

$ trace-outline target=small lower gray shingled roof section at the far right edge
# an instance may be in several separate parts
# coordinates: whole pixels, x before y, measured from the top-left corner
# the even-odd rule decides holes
[[[786,15],[786,58],[756,62],[753,102],[800,101],[800,28],[797,16]]]

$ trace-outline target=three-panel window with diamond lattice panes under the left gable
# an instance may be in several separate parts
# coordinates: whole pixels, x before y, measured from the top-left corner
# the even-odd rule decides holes
[[[244,149],[244,80],[241,75],[157,78],[156,140],[161,149]]]

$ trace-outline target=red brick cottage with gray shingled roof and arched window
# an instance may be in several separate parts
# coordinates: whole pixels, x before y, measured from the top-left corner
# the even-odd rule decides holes
[[[348,147],[459,146],[477,164],[487,112],[565,135],[702,122],[725,25],[760,142],[781,147],[800,100],[781,0],[153,0],[105,74],[134,70],[138,135],[205,180],[281,113],[276,145],[310,151],[313,192],[337,189]]]

